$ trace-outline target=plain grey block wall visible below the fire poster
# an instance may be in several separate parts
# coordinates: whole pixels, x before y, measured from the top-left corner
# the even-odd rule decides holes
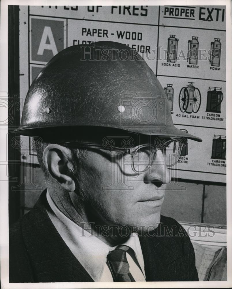
[[[25,166],[20,191],[21,215],[29,212],[46,188],[38,166]],[[167,185],[161,213],[183,222],[226,225],[226,186],[182,180]]]

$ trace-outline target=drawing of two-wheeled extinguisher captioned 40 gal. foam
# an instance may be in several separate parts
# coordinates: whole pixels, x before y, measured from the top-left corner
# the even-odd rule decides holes
[[[188,82],[187,87],[182,87],[179,94],[179,108],[181,112],[197,113],[201,106],[201,92],[193,86],[194,82]]]

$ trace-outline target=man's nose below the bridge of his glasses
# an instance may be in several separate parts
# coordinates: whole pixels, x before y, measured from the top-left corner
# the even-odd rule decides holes
[[[168,170],[161,150],[157,150],[150,168],[145,172],[144,181],[146,183],[153,182],[156,186],[161,186],[167,184],[170,180],[171,170]]]

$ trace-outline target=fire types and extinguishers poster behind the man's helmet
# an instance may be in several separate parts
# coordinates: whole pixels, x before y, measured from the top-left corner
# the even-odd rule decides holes
[[[213,2],[212,2],[213,3]],[[226,182],[225,6],[20,6],[20,97],[66,47],[116,41],[137,50],[188,140],[173,176]],[[21,108],[22,109],[22,108]],[[22,161],[37,163],[22,136]]]

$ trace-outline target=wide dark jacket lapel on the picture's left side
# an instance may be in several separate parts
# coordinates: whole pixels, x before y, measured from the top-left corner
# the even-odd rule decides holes
[[[47,206],[45,190],[33,212],[25,215],[22,223],[22,235],[35,272],[35,281],[93,282],[55,229],[46,212]]]

